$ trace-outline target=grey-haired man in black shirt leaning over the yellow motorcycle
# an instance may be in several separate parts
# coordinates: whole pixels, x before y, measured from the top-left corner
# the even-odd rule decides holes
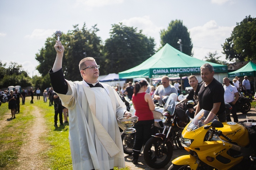
[[[224,88],[222,84],[213,77],[214,69],[211,64],[203,64],[200,69],[203,83],[198,92],[199,101],[195,115],[201,109],[204,109],[217,115],[219,121],[226,122]],[[204,124],[208,122],[209,120],[205,119]]]

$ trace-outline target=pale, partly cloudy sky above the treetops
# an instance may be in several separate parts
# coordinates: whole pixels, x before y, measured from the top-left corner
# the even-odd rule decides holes
[[[0,0],[0,60],[21,64],[32,77],[39,75],[35,54],[56,30],[97,24],[104,41],[111,24],[123,22],[155,38],[159,47],[160,30],[180,19],[190,32],[194,57],[202,60],[217,51],[224,61],[221,44],[237,22],[256,17],[255,9],[255,0]]]

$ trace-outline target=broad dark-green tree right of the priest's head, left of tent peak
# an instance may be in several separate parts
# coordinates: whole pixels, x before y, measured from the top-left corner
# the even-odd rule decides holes
[[[154,47],[154,39],[147,38],[142,30],[122,23],[113,24],[110,38],[106,39],[104,45],[103,70],[105,74],[118,73],[137,66],[155,53]]]

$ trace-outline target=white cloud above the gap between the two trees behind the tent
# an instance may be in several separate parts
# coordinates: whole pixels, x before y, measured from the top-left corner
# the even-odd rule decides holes
[[[160,45],[160,30],[162,27],[157,27],[151,20],[149,16],[143,17],[133,17],[129,19],[124,19],[122,21],[124,25],[129,27],[137,27],[137,30],[143,30],[142,33],[146,36],[155,37],[155,42],[157,44],[157,48]]]

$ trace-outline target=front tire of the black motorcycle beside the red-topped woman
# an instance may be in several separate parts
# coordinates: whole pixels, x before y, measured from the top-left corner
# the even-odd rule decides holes
[[[172,158],[173,147],[171,142],[167,142],[161,153],[163,140],[159,137],[151,137],[145,144],[143,157],[148,166],[154,169],[165,167]]]

